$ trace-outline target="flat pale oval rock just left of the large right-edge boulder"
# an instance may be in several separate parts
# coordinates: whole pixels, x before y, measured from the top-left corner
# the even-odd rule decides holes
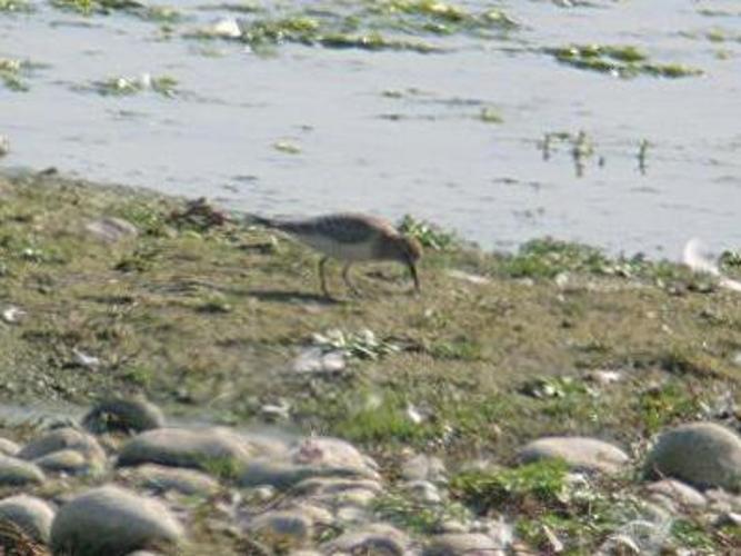
[[[552,436],[533,440],[519,451],[522,463],[541,459],[562,459],[572,468],[583,471],[618,473],[629,461],[620,448],[597,438]]]

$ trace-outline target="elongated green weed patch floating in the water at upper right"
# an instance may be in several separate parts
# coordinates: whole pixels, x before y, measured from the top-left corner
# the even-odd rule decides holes
[[[653,76],[675,79],[702,75],[702,70],[680,63],[652,62],[647,53],[632,46],[571,44],[549,48],[545,52],[573,68],[621,78]]]

